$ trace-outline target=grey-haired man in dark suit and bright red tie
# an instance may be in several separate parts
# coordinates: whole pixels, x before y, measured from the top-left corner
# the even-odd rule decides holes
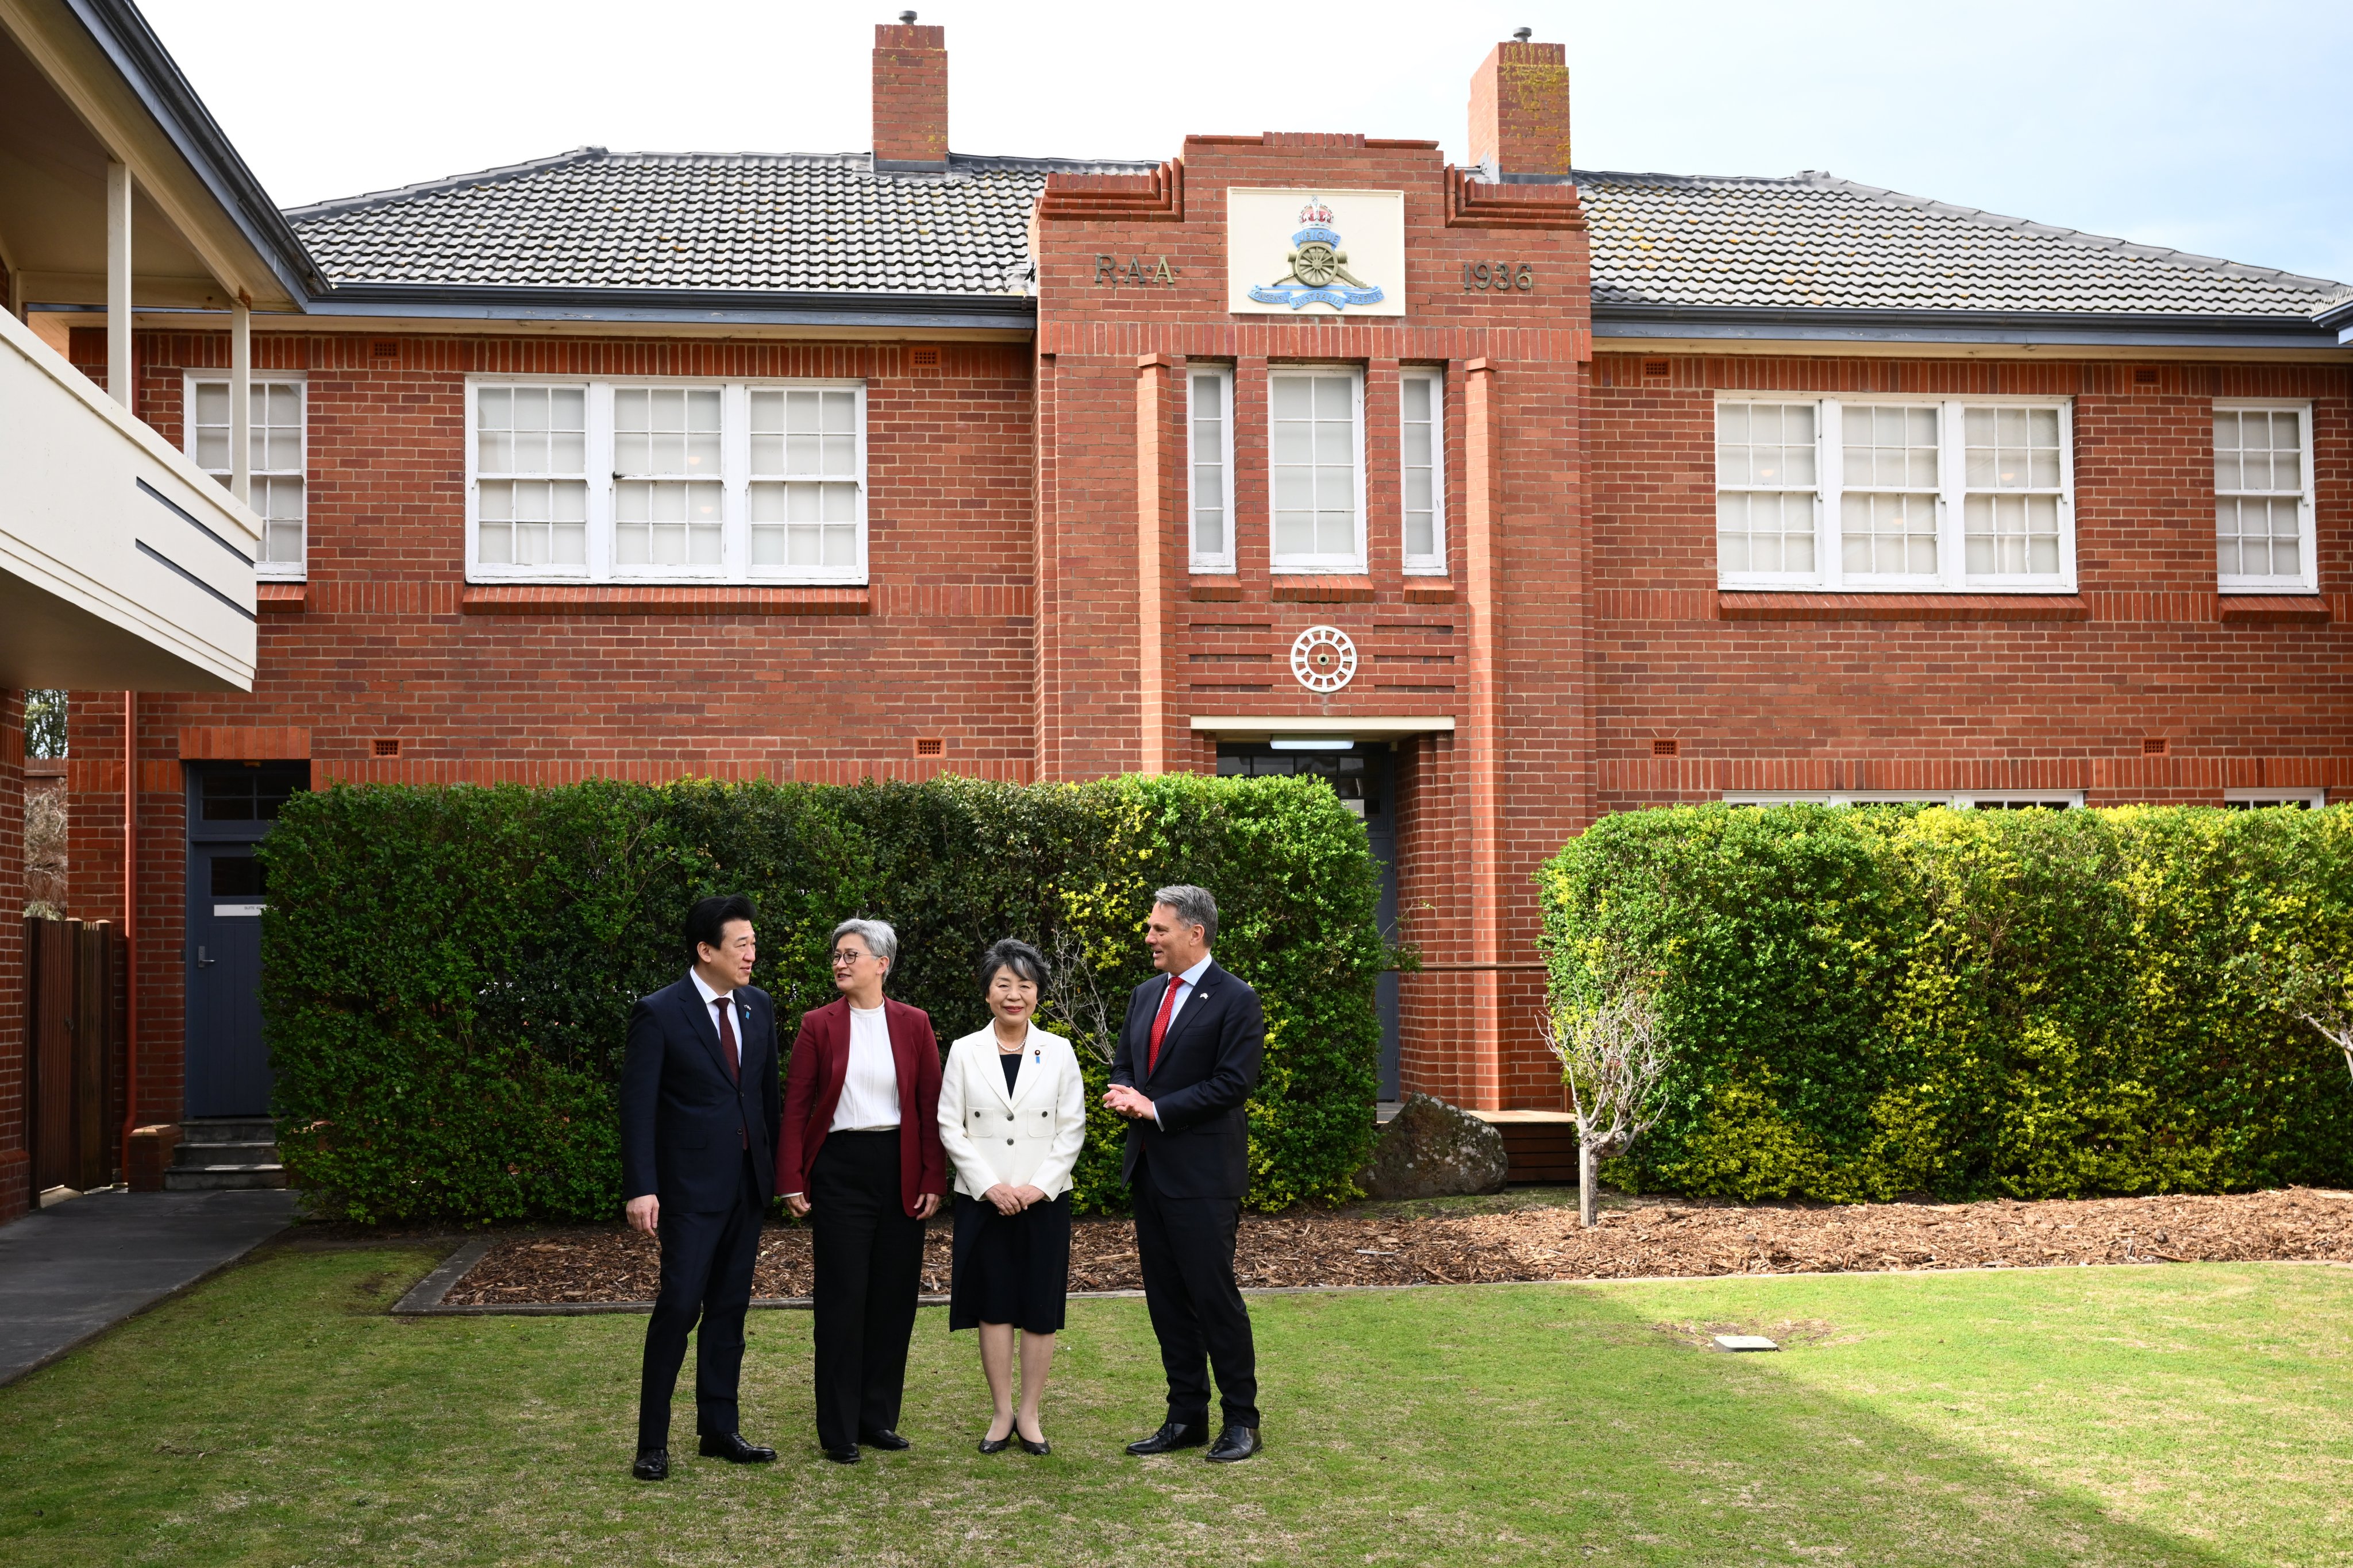
[[[1209,957],[1214,938],[1207,889],[1153,893],[1144,943],[1165,978],[1127,999],[1104,1105],[1127,1117],[1136,1262],[1169,1380],[1167,1420],[1127,1453],[1209,1443],[1214,1366],[1224,1422],[1207,1458],[1224,1465],[1259,1453],[1259,1363],[1233,1239],[1249,1192],[1247,1103],[1266,1058],[1266,1013],[1259,992]]]

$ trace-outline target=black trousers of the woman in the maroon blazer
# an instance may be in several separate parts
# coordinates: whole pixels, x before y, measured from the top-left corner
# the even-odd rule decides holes
[[[816,1441],[899,1425],[922,1286],[922,1220],[899,1204],[899,1133],[828,1133],[809,1166]]]

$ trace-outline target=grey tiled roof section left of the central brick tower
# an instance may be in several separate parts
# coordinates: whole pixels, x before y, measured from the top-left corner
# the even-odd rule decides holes
[[[1028,209],[1056,169],[1148,162],[866,153],[607,153],[379,190],[287,214],[336,284],[1028,294]]]

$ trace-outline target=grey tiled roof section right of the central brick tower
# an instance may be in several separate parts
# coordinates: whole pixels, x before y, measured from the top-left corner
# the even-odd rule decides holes
[[[2311,317],[2341,282],[1807,172],[1579,172],[1593,303]]]

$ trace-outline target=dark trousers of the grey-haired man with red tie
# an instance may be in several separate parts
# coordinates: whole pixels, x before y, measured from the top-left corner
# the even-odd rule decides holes
[[[1136,1262],[1153,1314],[1160,1366],[1169,1378],[1169,1420],[1209,1425],[1209,1368],[1228,1427],[1259,1425],[1259,1352],[1249,1307],[1233,1284],[1233,1234],[1242,1199],[1172,1199],[1153,1190],[1151,1161],[1136,1166]]]

